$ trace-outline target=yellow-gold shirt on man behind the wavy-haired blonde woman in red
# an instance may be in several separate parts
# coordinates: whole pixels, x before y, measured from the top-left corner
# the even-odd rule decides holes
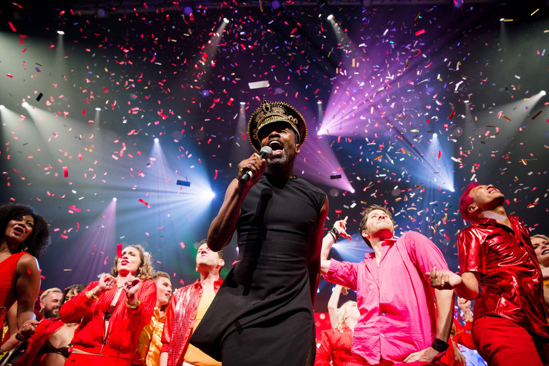
[[[162,330],[166,314],[160,318],[160,310],[154,308],[150,323],[145,325],[137,340],[137,351],[133,354],[132,364],[158,366],[160,364],[160,348],[162,348]]]

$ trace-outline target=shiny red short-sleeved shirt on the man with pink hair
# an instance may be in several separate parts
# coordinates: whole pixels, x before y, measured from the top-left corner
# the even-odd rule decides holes
[[[457,238],[461,272],[480,273],[483,292],[473,318],[495,314],[549,338],[543,278],[528,229],[518,216],[508,218],[513,230],[488,219],[464,228]]]

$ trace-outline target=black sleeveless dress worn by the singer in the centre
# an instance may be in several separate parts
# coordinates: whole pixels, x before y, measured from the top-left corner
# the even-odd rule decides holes
[[[325,199],[326,193],[300,178],[261,177],[242,204],[240,261],[191,336],[192,345],[223,366],[312,365],[307,256]]]

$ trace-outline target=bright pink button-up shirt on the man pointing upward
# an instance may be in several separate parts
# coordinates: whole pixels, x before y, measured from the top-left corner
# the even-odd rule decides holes
[[[428,348],[436,336],[434,289],[425,272],[448,265],[439,248],[418,232],[382,244],[379,268],[374,253],[360,263],[330,261],[324,279],[356,291],[360,318],[351,352],[370,364],[403,362]]]

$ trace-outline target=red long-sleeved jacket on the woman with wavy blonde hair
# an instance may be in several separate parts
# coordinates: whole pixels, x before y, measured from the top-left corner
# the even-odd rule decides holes
[[[105,310],[113,301],[117,288],[106,290],[99,299],[91,302],[86,297],[86,291],[92,290],[98,283],[90,283],[81,293],[61,306],[61,320],[64,323],[78,323],[82,319],[71,344],[89,353],[131,358],[137,348],[141,330],[149,324],[153,315],[156,305],[156,284],[152,279],[143,281],[137,293],[137,298],[141,300],[137,309],[126,306],[126,291],[122,289],[104,336]]]

